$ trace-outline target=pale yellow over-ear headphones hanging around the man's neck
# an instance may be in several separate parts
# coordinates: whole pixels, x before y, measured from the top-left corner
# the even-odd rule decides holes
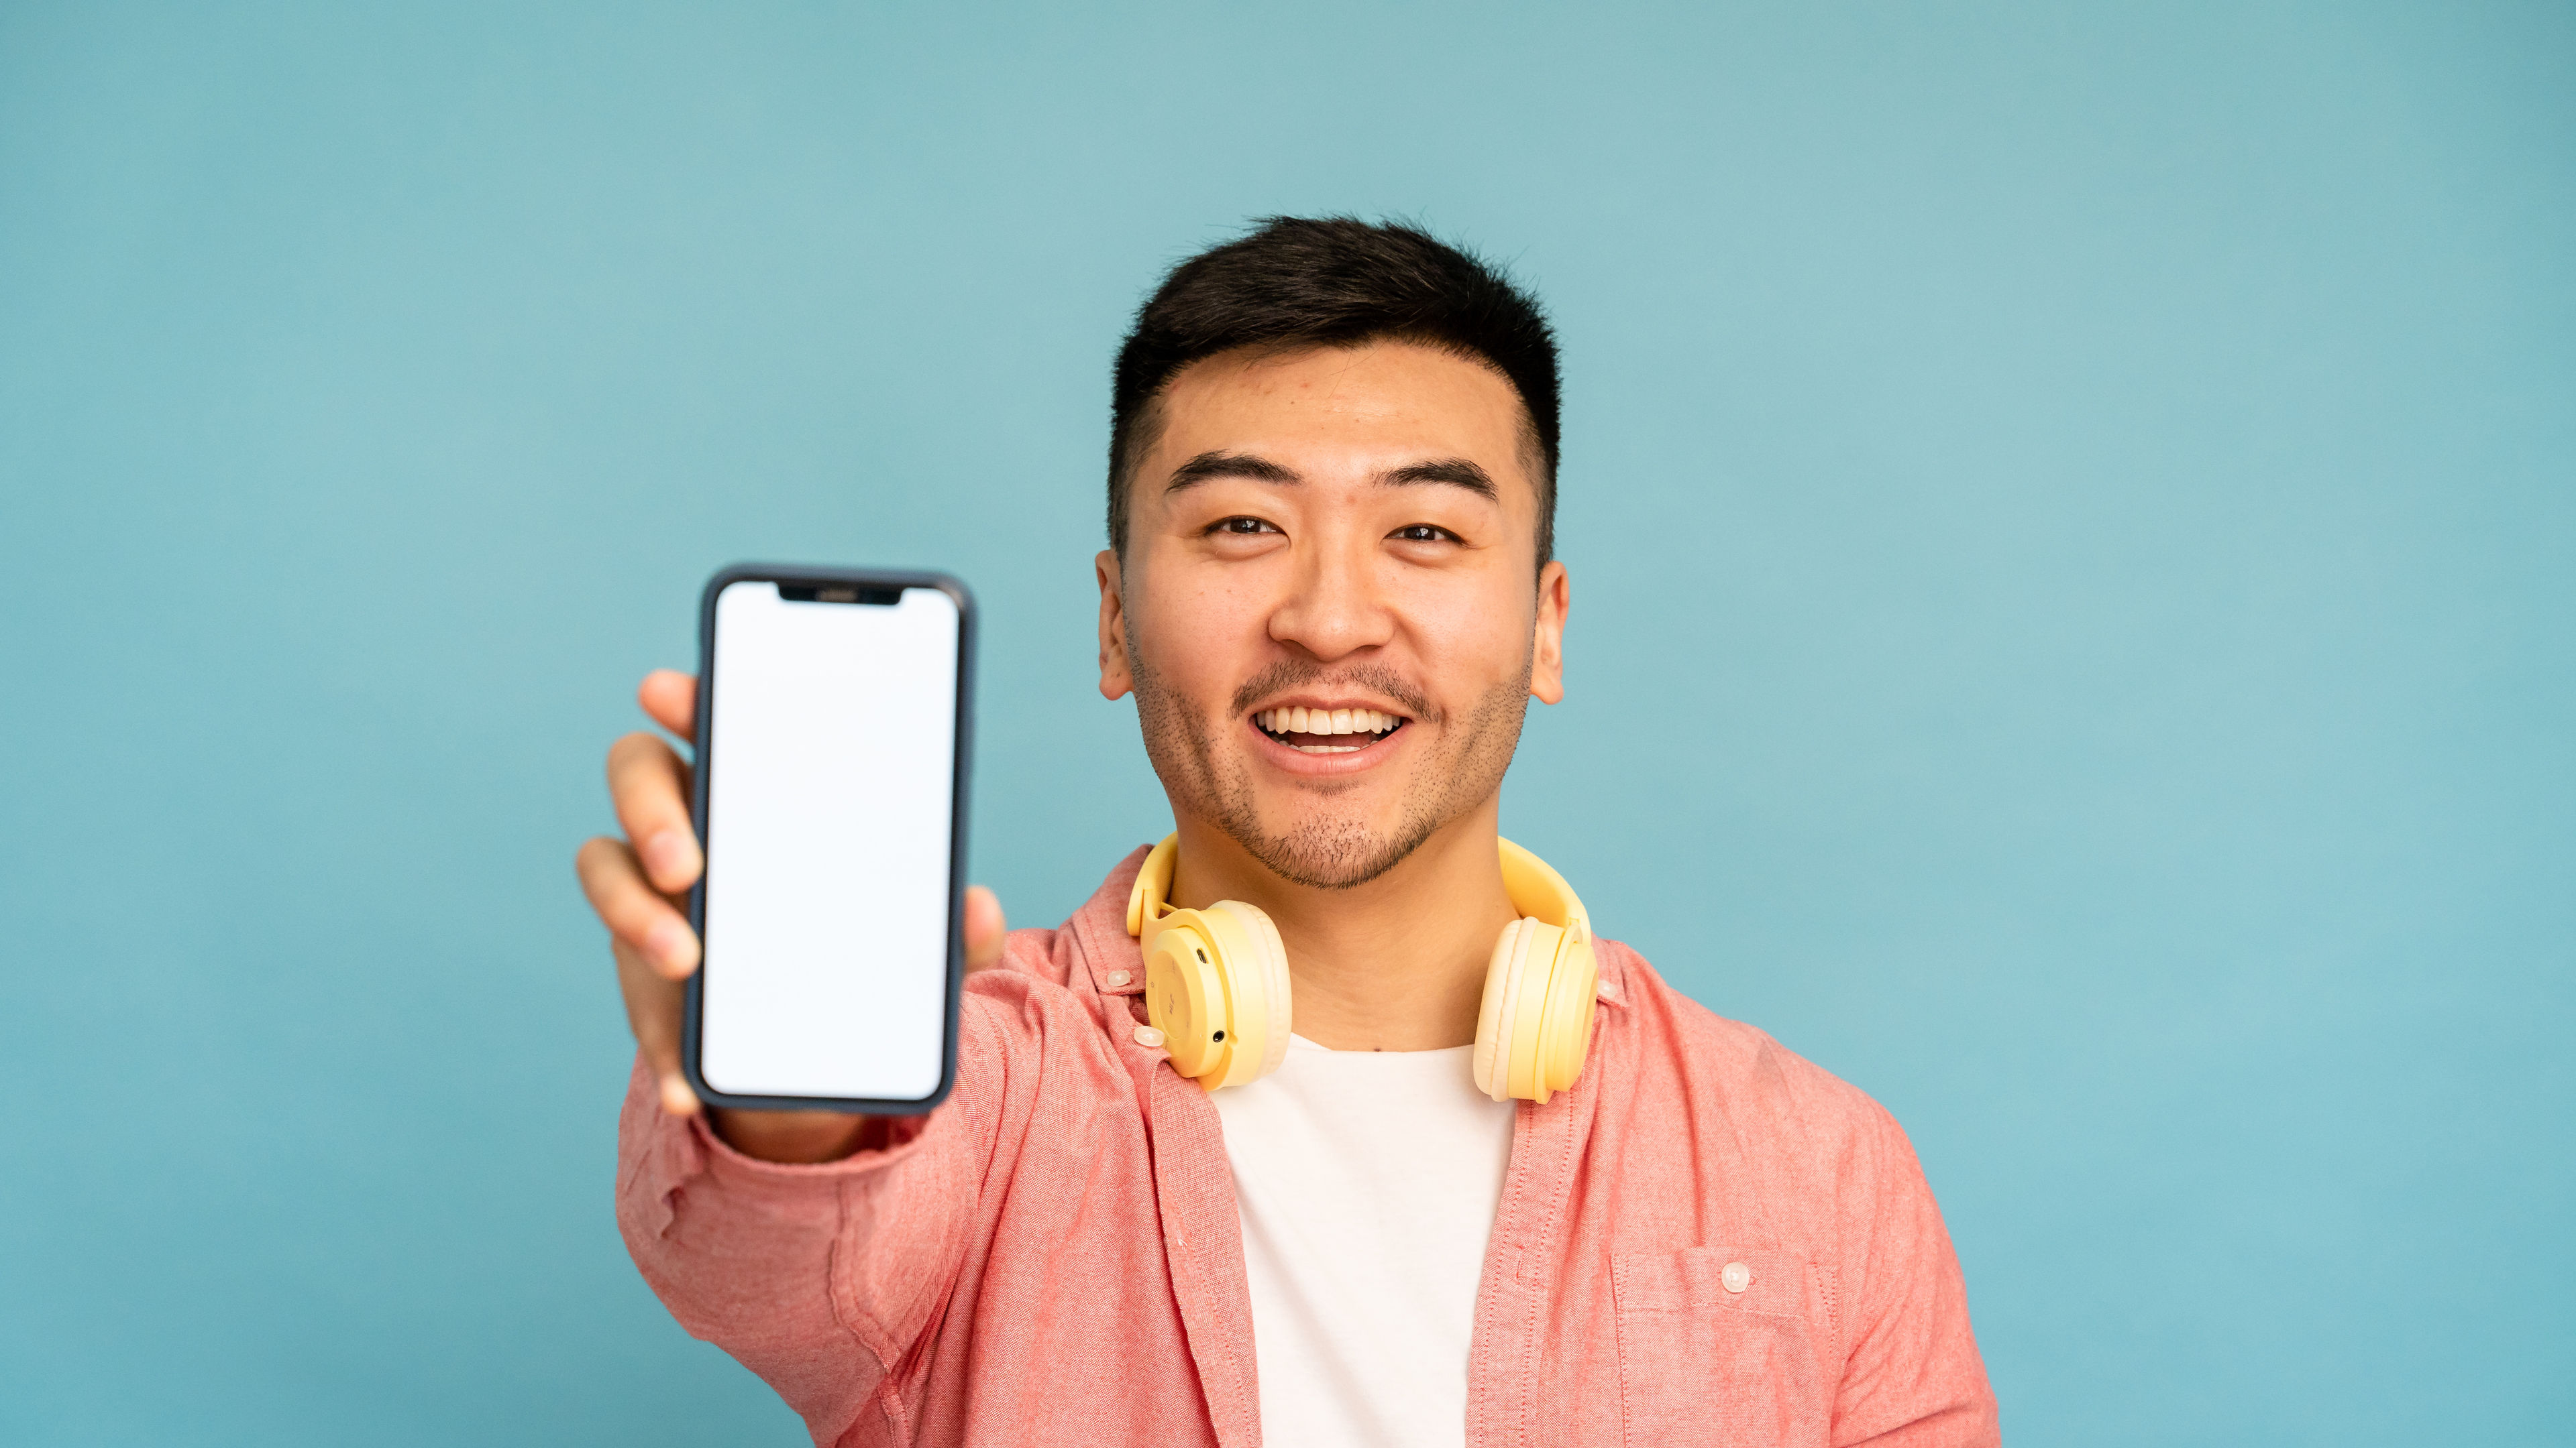
[[[1128,935],[1144,946],[1144,1010],[1172,1051],[1172,1069],[1208,1090],[1260,1080],[1288,1059],[1288,951],[1270,917],[1239,899],[1172,910],[1167,835],[1136,871]],[[1520,920],[1504,925],[1484,971],[1476,1015],[1476,1090],[1494,1100],[1574,1085],[1592,1049],[1592,922],[1566,876],[1502,840],[1502,889]]]

